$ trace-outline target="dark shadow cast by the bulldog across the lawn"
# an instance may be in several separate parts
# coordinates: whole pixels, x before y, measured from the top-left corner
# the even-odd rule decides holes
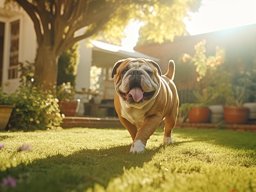
[[[160,145],[142,154],[131,154],[130,146],[82,149],[68,156],[38,159],[0,172],[0,179],[9,175],[18,179],[19,185],[11,191],[83,191],[95,183],[106,188],[111,178],[122,175],[125,169],[142,167],[164,148]]]

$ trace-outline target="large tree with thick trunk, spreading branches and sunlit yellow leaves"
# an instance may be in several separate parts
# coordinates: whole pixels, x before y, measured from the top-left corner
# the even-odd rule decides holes
[[[183,18],[201,0],[11,0],[34,22],[38,43],[35,75],[56,83],[57,60],[79,40],[99,36],[118,44],[131,19],[144,23],[141,35],[162,43],[185,33]],[[10,2],[10,0],[7,0]],[[82,30],[83,33],[81,33]],[[78,32],[79,31],[79,32]],[[47,55],[47,57],[45,57]],[[44,60],[44,61],[43,61]],[[49,75],[50,74],[50,75]]]

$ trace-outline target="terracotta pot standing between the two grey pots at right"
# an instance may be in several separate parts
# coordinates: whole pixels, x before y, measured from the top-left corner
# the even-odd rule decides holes
[[[225,106],[224,117],[228,124],[245,124],[249,115],[249,108]]]

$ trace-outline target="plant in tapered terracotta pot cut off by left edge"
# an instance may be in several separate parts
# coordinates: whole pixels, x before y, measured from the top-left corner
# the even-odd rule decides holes
[[[13,108],[12,97],[0,88],[0,131],[6,128]]]

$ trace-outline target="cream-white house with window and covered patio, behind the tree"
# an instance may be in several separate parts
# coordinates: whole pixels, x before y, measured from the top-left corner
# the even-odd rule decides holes
[[[0,87],[11,93],[20,85],[18,63],[25,61],[33,63],[38,45],[34,24],[29,15],[23,9],[6,9],[1,2],[3,1],[0,1]],[[158,61],[157,58],[104,42],[87,39],[81,40],[79,44],[80,60],[75,89],[76,98],[81,99],[81,103],[88,103],[94,95],[99,95],[100,99],[114,99],[115,87],[109,74],[118,60],[144,57]],[[101,93],[90,91],[91,66],[103,68]],[[78,115],[82,116],[83,104],[80,106]]]

